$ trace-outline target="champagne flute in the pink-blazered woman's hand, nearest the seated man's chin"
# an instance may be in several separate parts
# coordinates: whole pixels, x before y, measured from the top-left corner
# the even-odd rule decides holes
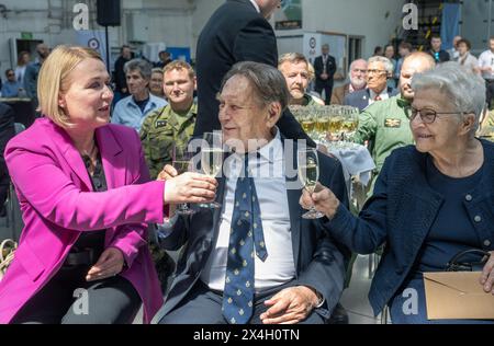
[[[211,177],[215,177],[223,166],[223,138],[221,132],[204,132],[203,147],[201,148],[202,172]],[[222,205],[217,201],[201,204],[201,207],[217,209]]]

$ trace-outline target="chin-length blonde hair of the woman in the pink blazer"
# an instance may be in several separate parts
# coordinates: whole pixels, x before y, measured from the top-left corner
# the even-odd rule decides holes
[[[61,127],[70,127],[70,118],[58,104],[60,93],[70,86],[70,72],[85,59],[103,61],[94,49],[80,46],[58,46],[43,62],[37,79],[37,108]]]

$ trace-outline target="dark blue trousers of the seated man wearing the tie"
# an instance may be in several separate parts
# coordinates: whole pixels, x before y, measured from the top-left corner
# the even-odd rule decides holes
[[[291,282],[274,289],[256,295],[254,313],[249,324],[262,324],[260,315],[266,312],[265,301],[280,290],[291,287]],[[213,292],[201,280],[183,298],[183,300],[159,324],[227,324],[222,313],[223,295]],[[316,312],[312,312],[301,324],[324,324],[324,319]]]

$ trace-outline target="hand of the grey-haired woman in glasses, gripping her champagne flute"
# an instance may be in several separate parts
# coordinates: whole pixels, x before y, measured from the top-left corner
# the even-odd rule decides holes
[[[335,217],[336,210],[338,210],[339,199],[336,198],[329,188],[317,183],[313,193],[305,188],[303,189],[302,196],[300,197],[300,205],[307,210],[314,208],[323,212],[330,220]]]

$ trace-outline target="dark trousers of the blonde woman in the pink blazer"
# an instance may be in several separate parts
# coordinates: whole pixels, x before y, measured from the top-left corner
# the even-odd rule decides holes
[[[89,266],[61,267],[22,307],[12,323],[26,324],[123,324],[132,323],[141,298],[120,275],[87,282]],[[79,291],[76,291],[80,289]],[[76,292],[82,291],[82,296]]]

